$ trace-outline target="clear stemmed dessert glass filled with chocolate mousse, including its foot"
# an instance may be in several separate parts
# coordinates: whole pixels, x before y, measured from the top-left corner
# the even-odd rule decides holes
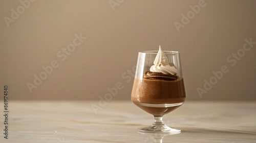
[[[154,66],[156,70],[163,71],[167,66],[175,68],[176,74],[172,73],[174,74],[172,75],[166,72],[162,74],[159,70],[159,72],[151,71]],[[173,69],[167,70],[172,71]],[[184,103],[185,97],[179,52],[161,51],[161,47],[159,51],[139,52],[131,100],[139,108],[155,117],[155,122],[151,126],[139,128],[139,132],[181,132],[179,129],[166,126],[162,118],[164,114],[180,107]]]

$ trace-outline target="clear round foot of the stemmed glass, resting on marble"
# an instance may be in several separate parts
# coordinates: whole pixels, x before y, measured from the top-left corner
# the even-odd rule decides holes
[[[173,129],[166,125],[151,125],[149,127],[145,128],[139,128],[139,132],[145,132],[145,133],[168,133],[168,134],[179,134],[181,130],[179,129]]]

